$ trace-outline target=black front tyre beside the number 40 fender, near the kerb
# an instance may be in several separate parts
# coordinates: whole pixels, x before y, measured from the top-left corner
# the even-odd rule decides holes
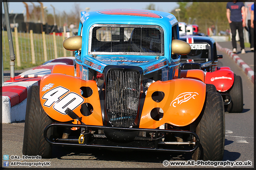
[[[52,145],[46,142],[43,136],[44,129],[51,123],[53,121],[44,112],[40,102],[39,86],[31,86],[27,95],[23,155],[51,157]],[[52,134],[53,129],[50,128],[47,136],[50,137]]]

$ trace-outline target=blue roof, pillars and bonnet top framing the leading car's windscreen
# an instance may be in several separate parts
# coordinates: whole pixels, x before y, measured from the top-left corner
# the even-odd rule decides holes
[[[110,55],[97,55],[97,58],[94,58],[88,54],[89,48],[89,33],[90,29],[94,24],[129,24],[129,25],[154,25],[160,26],[164,32],[164,57],[161,57],[160,60],[156,60],[155,56],[138,56],[138,55],[120,55],[110,54]],[[176,26],[175,26],[176,25]],[[127,61],[126,64],[138,65],[143,69],[145,73],[150,73],[151,70],[148,67],[154,66],[155,64],[162,64],[161,67],[166,67],[171,60],[170,44],[171,44],[171,35],[172,27],[177,27],[177,36],[178,35],[178,21],[174,15],[167,12],[153,11],[153,10],[134,10],[134,9],[109,9],[109,10],[98,10],[85,13],[80,19],[79,32],[82,29],[82,52],[81,56],[76,56],[76,60],[85,65],[85,67],[92,68],[91,66],[86,66],[84,64],[85,60],[88,63],[93,63],[95,66],[99,66],[100,69],[95,69],[98,72],[102,73],[102,70],[105,66],[112,64],[118,64],[117,62],[112,61],[111,57],[125,58]],[[81,28],[82,27],[82,28]],[[121,60],[121,59],[120,59]],[[137,60],[137,61],[135,61]],[[91,65],[91,64],[90,64]]]

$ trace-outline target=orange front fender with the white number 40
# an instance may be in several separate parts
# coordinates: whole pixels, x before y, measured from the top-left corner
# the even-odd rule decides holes
[[[40,83],[40,101],[44,111],[54,120],[73,120],[65,113],[66,108],[69,108],[82,118],[83,123],[103,125],[98,88],[93,80],[86,81],[57,73],[45,75]],[[86,103],[90,103],[93,109],[90,115],[85,116],[80,109]]]

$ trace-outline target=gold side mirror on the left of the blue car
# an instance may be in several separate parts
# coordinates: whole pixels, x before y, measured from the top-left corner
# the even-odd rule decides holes
[[[82,36],[70,36],[63,41],[63,47],[69,51],[79,51],[82,49]]]

